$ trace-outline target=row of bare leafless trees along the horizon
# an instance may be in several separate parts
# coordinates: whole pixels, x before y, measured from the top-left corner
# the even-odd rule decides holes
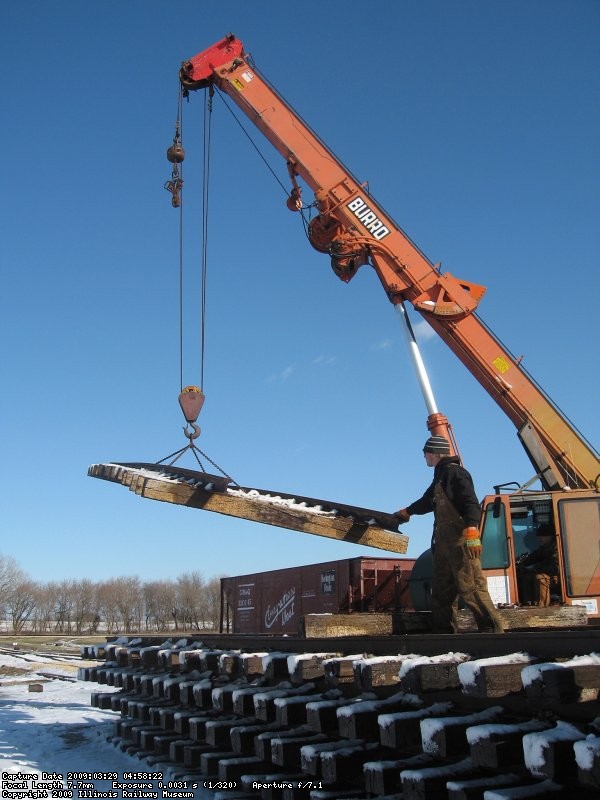
[[[219,627],[219,578],[188,572],[175,580],[124,576],[37,583],[0,554],[0,615],[14,633],[134,633]]]

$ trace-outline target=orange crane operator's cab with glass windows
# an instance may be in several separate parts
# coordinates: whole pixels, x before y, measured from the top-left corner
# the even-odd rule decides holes
[[[482,503],[481,566],[496,604],[523,605],[519,564],[538,546],[539,525],[556,533],[553,604],[583,606],[600,623],[600,495],[594,491],[496,494]]]

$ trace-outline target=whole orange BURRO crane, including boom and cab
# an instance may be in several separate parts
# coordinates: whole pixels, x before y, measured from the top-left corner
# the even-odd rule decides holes
[[[535,478],[482,504],[483,567],[494,578],[496,599],[518,600],[516,562],[531,549],[533,531],[550,522],[559,537],[563,603],[600,616],[600,459],[475,313],[483,286],[442,273],[423,255],[310,127],[260,75],[243,43],[232,34],[185,61],[185,93],[214,87],[228,95],[285,159],[290,177],[288,208],[303,207],[305,184],[317,214],[309,239],[331,259],[335,274],[350,281],[370,265],[391,303],[403,314],[409,302],[514,423],[534,466]],[[312,203],[311,199],[311,203]],[[422,383],[433,434],[453,441]],[[528,491],[539,479],[541,492]]]

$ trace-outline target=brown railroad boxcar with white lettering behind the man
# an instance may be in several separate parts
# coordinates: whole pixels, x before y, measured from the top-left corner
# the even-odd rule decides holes
[[[414,564],[359,556],[221,578],[221,632],[296,635],[305,614],[411,608]]]

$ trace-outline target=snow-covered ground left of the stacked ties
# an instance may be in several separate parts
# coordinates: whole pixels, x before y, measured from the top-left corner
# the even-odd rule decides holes
[[[163,781],[125,777],[128,773],[149,773],[151,768],[108,741],[116,714],[91,706],[90,696],[96,684],[65,680],[77,677],[77,666],[77,662],[69,660],[57,662],[43,656],[32,660],[30,655],[0,653],[2,797],[10,798],[11,791],[22,800],[85,797],[83,784],[88,784],[89,790],[93,785],[94,791],[116,791],[118,798],[127,796],[122,788],[112,786],[115,780],[152,783],[152,788],[145,791],[155,791],[161,798],[160,783],[167,789],[171,776],[165,774]],[[30,691],[31,684],[41,685],[42,691]],[[7,773],[17,777],[8,778]],[[55,773],[60,777],[52,777]],[[69,779],[70,773],[79,773],[80,777]],[[23,783],[26,785],[16,786]],[[63,790],[57,793],[61,784]],[[188,788],[194,798],[212,796],[211,792],[191,784]],[[23,793],[25,789],[28,794]]]

